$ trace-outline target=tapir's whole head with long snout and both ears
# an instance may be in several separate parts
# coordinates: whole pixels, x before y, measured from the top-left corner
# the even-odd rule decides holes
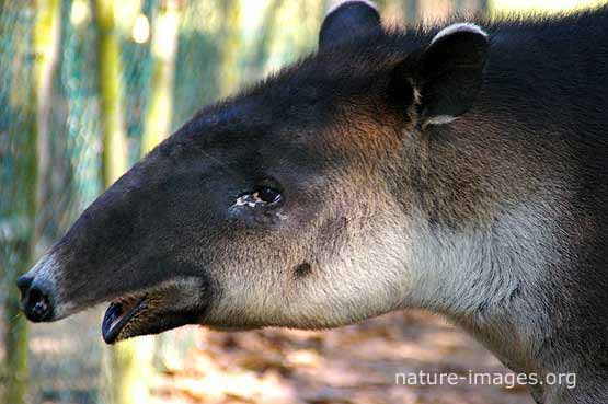
[[[486,35],[395,35],[351,1],[319,51],[198,113],[19,280],[32,321],[111,302],[107,343],[183,324],[331,327],[403,307],[425,131],[466,113]]]

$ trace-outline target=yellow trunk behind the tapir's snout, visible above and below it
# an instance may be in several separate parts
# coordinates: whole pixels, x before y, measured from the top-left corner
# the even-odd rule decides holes
[[[114,0],[95,0],[97,74],[103,136],[103,183],[107,188],[127,169],[121,48],[114,21]],[[127,340],[107,349],[105,379],[108,402],[147,403],[152,342]]]

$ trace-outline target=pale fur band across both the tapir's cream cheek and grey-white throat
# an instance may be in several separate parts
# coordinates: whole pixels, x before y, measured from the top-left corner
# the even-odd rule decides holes
[[[474,316],[483,307],[489,316],[502,315],[514,293],[543,281],[541,268],[554,256],[557,222],[547,204],[505,210],[493,234],[431,230],[421,211],[405,217],[394,213],[397,206],[385,208],[374,215],[354,210],[359,222],[331,249],[311,251],[302,244],[284,250],[287,261],[250,256],[243,262],[253,258],[260,265],[241,266],[241,272],[225,267],[216,322],[331,327],[412,307],[455,318]],[[312,269],[297,278],[291,268],[301,261]],[[540,309],[539,302],[538,316]]]

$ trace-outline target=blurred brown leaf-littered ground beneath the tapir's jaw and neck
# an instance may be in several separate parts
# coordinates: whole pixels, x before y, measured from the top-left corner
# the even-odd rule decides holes
[[[323,332],[196,331],[196,347],[156,383],[160,403],[529,404],[521,385],[471,385],[469,372],[507,374],[443,319],[393,313]],[[403,385],[398,373],[456,373],[457,385]],[[420,379],[418,379],[420,380]]]

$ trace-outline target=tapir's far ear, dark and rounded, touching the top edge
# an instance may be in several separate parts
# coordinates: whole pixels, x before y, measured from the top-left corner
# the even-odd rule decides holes
[[[319,49],[365,36],[380,28],[380,14],[371,1],[347,0],[334,5],[319,33]]]

